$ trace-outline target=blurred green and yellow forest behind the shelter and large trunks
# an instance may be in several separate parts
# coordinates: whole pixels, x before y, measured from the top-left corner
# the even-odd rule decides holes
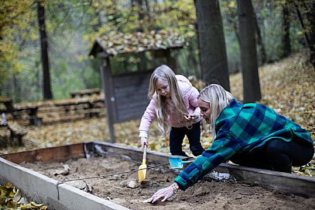
[[[100,63],[88,54],[97,37],[103,34],[110,37],[119,32],[167,30],[179,34],[187,45],[173,52],[178,73],[201,78],[194,3],[192,0],[4,1],[0,6],[0,95],[12,98],[14,103],[43,100],[43,65],[49,70],[50,98],[69,98],[69,92],[74,90],[101,88]],[[239,72],[237,2],[219,3],[229,72]],[[253,0],[252,6],[258,65],[307,48],[307,32],[312,34],[314,27],[306,14],[312,10],[314,1]],[[49,60],[43,65],[43,36],[39,25],[42,30],[45,27],[48,47]],[[123,62],[136,66],[139,59],[130,56]],[[119,71],[119,68],[112,67],[112,70]]]

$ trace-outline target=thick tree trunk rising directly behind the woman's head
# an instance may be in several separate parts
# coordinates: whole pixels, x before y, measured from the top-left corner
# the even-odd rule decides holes
[[[198,21],[201,72],[207,84],[230,91],[229,70],[219,1],[194,0]]]

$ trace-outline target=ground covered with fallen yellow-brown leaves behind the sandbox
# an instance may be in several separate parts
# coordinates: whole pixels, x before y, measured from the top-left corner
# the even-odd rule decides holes
[[[294,120],[307,129],[315,139],[315,71],[312,65],[307,64],[307,52],[298,53],[287,59],[264,65],[259,68],[261,93],[263,99],[259,103],[268,105],[279,114]],[[230,86],[233,96],[243,100],[243,81],[240,73],[230,76]],[[114,125],[116,143],[139,147],[138,127],[140,120]],[[207,132],[207,125],[203,125],[201,141],[203,147],[211,145]],[[150,149],[154,151],[170,152],[168,138],[162,137],[156,123],[150,127]],[[88,140],[103,140],[110,142],[110,134],[106,118],[88,118],[70,123],[59,123],[41,127],[28,127],[28,134],[24,136],[24,146],[8,146],[1,148],[1,154],[27,149],[53,147],[71,143],[80,143]],[[190,154],[187,139],[184,140],[184,150]],[[299,174],[315,176],[314,164],[301,169],[294,169]],[[300,170],[300,171],[298,171]]]

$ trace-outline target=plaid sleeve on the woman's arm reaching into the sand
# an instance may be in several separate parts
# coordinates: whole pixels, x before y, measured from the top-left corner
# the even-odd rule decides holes
[[[211,147],[184,169],[175,178],[175,182],[177,182],[179,188],[182,190],[187,189],[198,180],[201,180],[205,174],[220,165],[221,162],[229,160],[240,149],[241,145],[235,138],[230,134],[221,132],[219,136],[216,136]]]

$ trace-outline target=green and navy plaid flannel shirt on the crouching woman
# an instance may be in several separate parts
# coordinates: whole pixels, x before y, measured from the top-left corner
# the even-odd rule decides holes
[[[272,138],[287,142],[294,138],[313,143],[309,132],[292,120],[276,114],[270,107],[257,103],[242,105],[235,99],[223,109],[216,120],[215,129],[216,138],[209,149],[175,178],[181,189],[194,185],[234,154],[250,152]]]

